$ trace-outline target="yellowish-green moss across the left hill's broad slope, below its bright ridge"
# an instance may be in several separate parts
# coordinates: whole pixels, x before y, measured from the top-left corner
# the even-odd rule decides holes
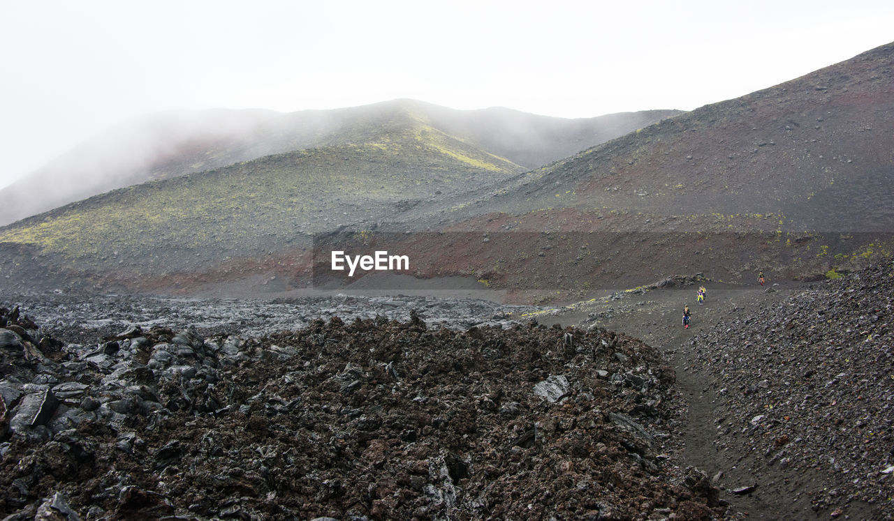
[[[131,186],[5,227],[0,241],[80,261],[116,250],[134,260],[171,248],[250,254],[247,248],[289,243],[330,227],[332,219],[361,217],[342,217],[352,211],[343,201],[382,203],[382,211],[392,211],[393,202],[429,197],[433,179],[449,189],[468,186],[469,172],[504,171],[495,161],[478,168],[461,153],[431,146],[395,155],[407,144],[400,139],[277,154]]]

